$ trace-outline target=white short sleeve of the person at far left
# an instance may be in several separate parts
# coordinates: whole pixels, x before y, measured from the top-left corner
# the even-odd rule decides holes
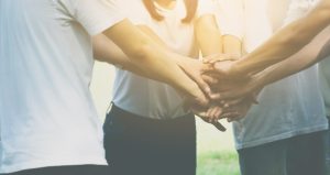
[[[66,12],[95,35],[122,21],[116,0],[59,0]]]

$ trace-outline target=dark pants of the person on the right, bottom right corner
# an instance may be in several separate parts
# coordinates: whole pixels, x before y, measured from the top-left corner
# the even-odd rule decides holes
[[[326,175],[327,132],[239,150],[242,175]]]

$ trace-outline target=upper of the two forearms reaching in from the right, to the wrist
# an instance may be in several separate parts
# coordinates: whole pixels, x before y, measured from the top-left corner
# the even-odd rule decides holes
[[[329,0],[321,1],[305,18],[278,31],[261,47],[239,61],[234,69],[240,74],[264,69],[301,50],[330,23],[329,3]]]

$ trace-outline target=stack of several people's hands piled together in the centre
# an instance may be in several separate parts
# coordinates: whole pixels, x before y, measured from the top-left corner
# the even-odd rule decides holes
[[[180,63],[180,67],[194,79],[204,95],[189,98],[187,106],[206,122],[226,131],[219,120],[229,122],[244,118],[257,103],[253,74],[242,75],[235,69],[235,55],[212,55],[202,61],[191,59]],[[207,102],[206,102],[207,101]]]

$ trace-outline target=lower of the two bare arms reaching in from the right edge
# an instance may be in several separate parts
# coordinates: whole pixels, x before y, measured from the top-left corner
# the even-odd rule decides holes
[[[245,86],[221,94],[221,99],[246,96],[256,89],[304,70],[330,55],[330,26],[318,34],[301,51],[253,76]]]

